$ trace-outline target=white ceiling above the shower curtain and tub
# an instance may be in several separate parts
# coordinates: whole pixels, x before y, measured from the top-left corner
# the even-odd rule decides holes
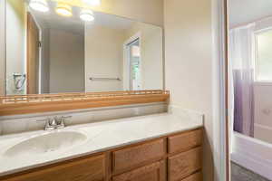
[[[228,2],[230,28],[272,15],[272,0],[229,0]]]

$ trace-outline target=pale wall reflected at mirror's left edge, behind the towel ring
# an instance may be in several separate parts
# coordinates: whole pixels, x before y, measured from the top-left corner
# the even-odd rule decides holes
[[[25,73],[26,7],[24,1],[6,1],[6,94],[24,94],[16,91],[13,73]]]

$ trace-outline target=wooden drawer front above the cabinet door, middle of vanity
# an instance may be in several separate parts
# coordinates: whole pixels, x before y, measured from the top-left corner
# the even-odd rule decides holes
[[[114,151],[112,152],[112,170],[116,174],[134,167],[141,167],[142,164],[159,160],[165,154],[164,139]]]

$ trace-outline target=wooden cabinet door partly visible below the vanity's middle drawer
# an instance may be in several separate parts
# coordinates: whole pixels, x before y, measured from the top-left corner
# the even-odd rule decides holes
[[[140,167],[119,176],[113,176],[112,181],[166,181],[165,161]]]

